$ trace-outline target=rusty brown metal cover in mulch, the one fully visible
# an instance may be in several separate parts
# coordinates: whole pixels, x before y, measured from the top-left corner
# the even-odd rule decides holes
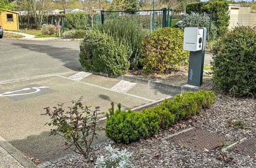
[[[203,152],[215,149],[224,141],[224,137],[201,129],[193,129],[170,138],[170,141],[186,145],[193,150]]]

